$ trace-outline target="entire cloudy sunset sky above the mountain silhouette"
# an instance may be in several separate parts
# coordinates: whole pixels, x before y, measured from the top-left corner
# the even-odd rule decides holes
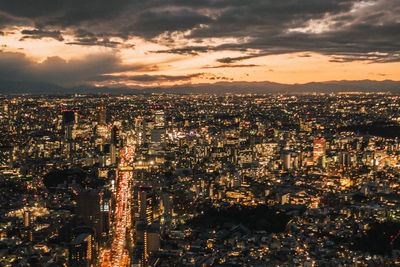
[[[1,0],[0,81],[400,80],[398,0]]]

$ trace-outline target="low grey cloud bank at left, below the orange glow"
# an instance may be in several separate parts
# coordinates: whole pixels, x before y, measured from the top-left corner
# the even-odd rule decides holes
[[[95,54],[81,59],[65,61],[49,57],[36,63],[22,53],[0,52],[0,80],[37,81],[58,85],[76,85],[91,81],[92,77],[123,71],[146,71],[153,66],[125,65],[112,54]]]

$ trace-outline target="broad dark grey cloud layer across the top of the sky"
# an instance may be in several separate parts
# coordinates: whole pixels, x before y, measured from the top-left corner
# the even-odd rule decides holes
[[[292,52],[338,62],[400,60],[400,2],[394,0],[2,0],[0,13],[0,27],[25,23],[47,35],[72,30],[75,45],[121,47],[119,42],[140,36],[169,47],[157,53],[245,52],[236,62]],[[176,42],[176,31],[187,42]],[[232,41],[223,45],[203,42],[228,37]]]

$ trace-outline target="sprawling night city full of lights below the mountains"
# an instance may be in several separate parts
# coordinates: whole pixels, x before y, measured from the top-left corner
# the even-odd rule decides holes
[[[400,94],[0,98],[0,266],[400,264]]]

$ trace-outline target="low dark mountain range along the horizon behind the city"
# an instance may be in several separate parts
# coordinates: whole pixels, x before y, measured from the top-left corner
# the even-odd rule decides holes
[[[400,81],[328,81],[305,84],[282,84],[274,82],[218,82],[214,84],[187,84],[169,87],[93,87],[65,88],[41,82],[0,81],[0,94],[139,94],[139,93],[330,93],[330,92],[394,92],[400,93]]]

